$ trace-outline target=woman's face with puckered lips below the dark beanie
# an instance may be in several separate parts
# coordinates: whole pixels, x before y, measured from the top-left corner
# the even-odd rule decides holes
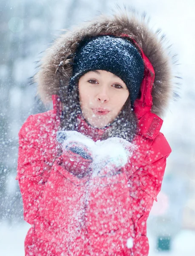
[[[89,71],[78,82],[83,117],[96,128],[111,123],[129,96],[126,84],[105,70]]]

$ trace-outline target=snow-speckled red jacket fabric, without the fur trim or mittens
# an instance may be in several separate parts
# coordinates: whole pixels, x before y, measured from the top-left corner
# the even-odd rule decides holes
[[[19,132],[17,179],[23,197],[24,219],[32,225],[25,240],[25,255],[147,256],[146,220],[161,189],[166,158],[171,149],[160,132],[162,119],[151,113],[154,71],[146,64],[141,98],[135,102],[137,146],[119,174],[78,178],[69,157],[61,156],[56,141],[61,111],[29,116]],[[100,139],[104,129],[80,118],[79,132]],[[65,157],[65,158],[64,158]],[[85,165],[87,169],[87,164]],[[105,173],[103,171],[103,173]],[[127,248],[127,239],[133,247]]]

